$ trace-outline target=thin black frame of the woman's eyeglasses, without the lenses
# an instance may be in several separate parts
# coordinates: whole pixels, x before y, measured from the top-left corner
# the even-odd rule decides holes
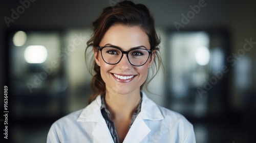
[[[123,54],[126,54],[126,55],[127,55],[126,57],[127,57],[128,61],[130,62],[130,64],[132,64],[132,65],[134,65],[134,66],[142,66],[142,65],[144,65],[144,64],[147,62],[148,58],[149,58],[150,55],[152,54],[152,51],[151,51],[151,50],[139,49],[139,48],[138,48],[139,50],[145,50],[145,51],[147,51],[147,52],[148,52],[148,57],[147,57],[146,61],[145,61],[142,65],[135,65],[135,64],[131,63],[128,54],[129,54],[129,52],[131,52],[131,51],[133,51],[133,50],[138,50],[138,49],[132,49],[132,50],[129,50],[129,51],[122,51],[122,50],[120,49],[120,47],[118,47],[118,46],[113,46],[113,45],[112,45],[112,46],[97,46],[97,47],[98,47],[98,50],[99,50],[100,53],[101,53],[101,57],[102,57],[103,61],[104,61],[105,63],[107,63],[107,64],[118,64],[118,63],[121,61],[121,59],[123,58]],[[108,62],[106,62],[106,61],[104,60],[104,58],[103,58],[103,56],[102,56],[102,52],[101,52],[104,47],[113,47],[113,48],[115,48],[115,49],[120,50],[121,53],[122,53],[122,56],[121,56],[120,60],[119,60],[118,62],[116,62],[116,63],[108,63]]]

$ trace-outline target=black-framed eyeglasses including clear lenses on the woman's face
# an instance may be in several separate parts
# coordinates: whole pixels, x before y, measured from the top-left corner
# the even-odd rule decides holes
[[[121,61],[123,54],[127,55],[128,61],[134,66],[142,66],[152,54],[152,51],[146,49],[132,49],[130,51],[122,51],[117,46],[98,46],[101,56],[105,63],[117,64]]]

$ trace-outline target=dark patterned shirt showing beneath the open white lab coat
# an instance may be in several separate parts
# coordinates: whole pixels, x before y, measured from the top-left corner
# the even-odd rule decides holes
[[[140,92],[140,97],[141,98],[140,98],[139,105],[138,105],[137,109],[135,110],[135,112],[133,113],[129,129],[131,128],[135,118],[137,117],[137,115],[140,112],[141,102],[142,102],[142,92]],[[101,107],[100,107],[100,110],[101,110],[101,114],[102,114],[103,118],[106,121],[106,125],[108,126],[108,128],[110,130],[110,133],[111,133],[111,136],[112,136],[114,142],[115,143],[120,143],[119,136],[117,134],[117,130],[116,130],[116,127],[115,127],[115,123],[111,120],[110,111],[106,108],[105,94],[103,96],[101,96]]]

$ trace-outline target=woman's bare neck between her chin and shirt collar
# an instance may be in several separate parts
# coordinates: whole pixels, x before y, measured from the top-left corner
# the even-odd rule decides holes
[[[140,102],[140,90],[135,90],[129,94],[118,94],[114,91],[106,91],[105,103],[110,111],[111,119],[131,120],[134,111]]]

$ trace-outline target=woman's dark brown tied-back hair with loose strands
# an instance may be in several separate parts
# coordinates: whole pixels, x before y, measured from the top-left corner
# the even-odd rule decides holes
[[[150,49],[152,51],[155,51],[154,64],[156,66],[156,69],[153,71],[155,73],[152,77],[153,79],[161,66],[161,58],[158,54],[158,45],[160,44],[160,39],[157,36],[155,30],[154,18],[145,5],[134,4],[131,1],[122,1],[117,3],[113,7],[106,7],[105,9],[103,9],[103,12],[99,16],[99,18],[93,22],[94,34],[92,38],[87,42],[86,53],[91,46],[94,50],[97,50],[97,46],[99,45],[105,32],[111,26],[116,24],[121,24],[129,27],[139,26],[147,34],[151,46]],[[88,101],[89,104],[93,100],[95,100],[99,94],[103,94],[105,92],[105,83],[100,75],[100,67],[96,64],[94,59],[91,60],[91,62],[93,62],[93,66],[91,66],[90,68],[90,73],[92,74],[92,69],[94,69],[96,74],[93,76],[91,81],[92,94]],[[152,79],[150,79],[149,81],[151,81]],[[140,88],[142,88],[143,85]]]

